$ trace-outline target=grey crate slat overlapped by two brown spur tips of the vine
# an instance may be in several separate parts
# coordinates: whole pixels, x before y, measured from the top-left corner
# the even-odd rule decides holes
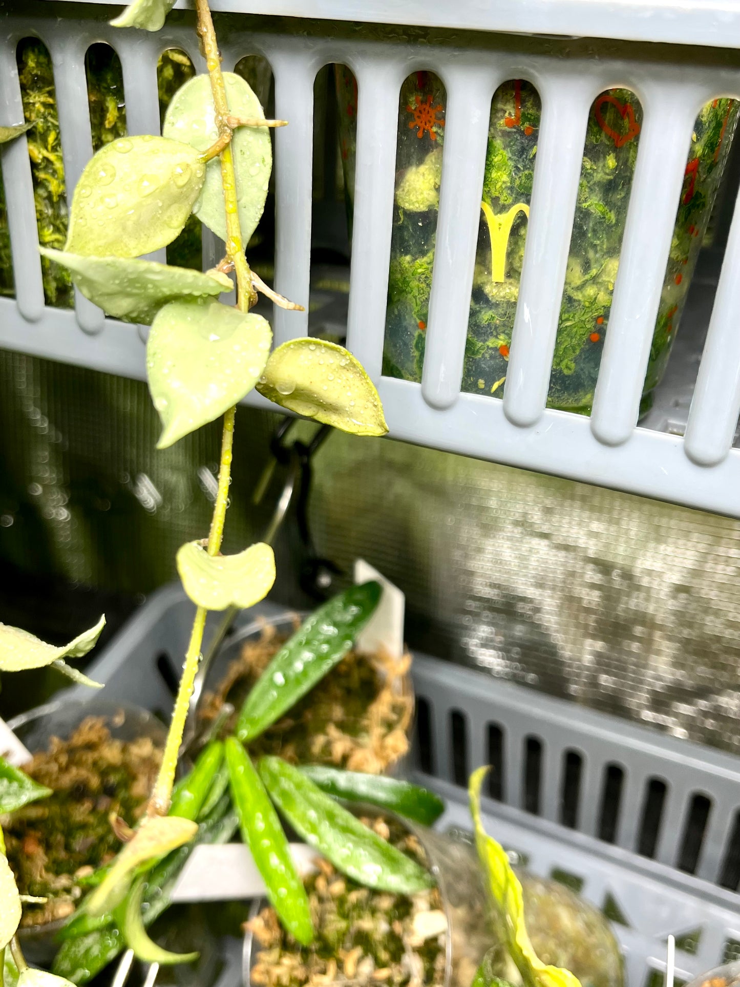
[[[308,335],[311,280],[311,194],[314,147],[314,79],[312,55],[287,49],[272,57],[275,115],[289,125],[275,130],[275,291],[303,305],[304,312],[274,306],[272,334],[276,345]]]

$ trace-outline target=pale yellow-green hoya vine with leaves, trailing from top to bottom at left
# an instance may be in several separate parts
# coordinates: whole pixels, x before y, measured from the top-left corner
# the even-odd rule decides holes
[[[172,6],[172,0],[134,0],[112,23],[156,31]],[[210,529],[206,538],[183,546],[177,558],[196,609],[162,766],[142,822],[91,895],[93,920],[96,914],[104,916],[119,907],[133,908],[138,915],[143,888],[134,883],[136,874],[151,870],[157,859],[196,836],[196,814],[176,815],[169,810],[206,614],[208,609],[251,606],[274,581],[274,558],[267,545],[221,555],[236,406],[257,387],[265,398],[290,411],[355,434],[382,435],[388,430],[375,388],[341,346],[296,339],[270,354],[269,325],[251,311],[258,291],[284,308],[300,306],[271,291],[253,273],[245,244],[266,198],[271,170],[268,128],[285,121],[265,120],[249,85],[233,73],[222,72],[207,0],[196,0],[196,19],[207,75],[195,76],[176,94],[163,136],[121,137],[92,158],[74,192],[64,250],[39,248],[48,261],[67,268],[77,288],[108,315],[151,325],[147,376],[164,426],[159,448],[223,417]],[[15,139],[22,132],[20,127],[4,128],[0,140]],[[225,243],[225,257],[215,269],[200,273],[141,259],[172,243],[192,213]],[[231,271],[236,307],[218,300],[221,293],[233,289]],[[86,653],[104,623],[102,619],[63,648],[45,645],[18,628],[0,626],[0,670],[53,663],[81,681],[81,673],[63,659]],[[0,855],[4,913],[0,948],[15,943],[21,915],[13,875],[2,866],[7,869],[4,855]],[[130,921],[126,924],[131,926]],[[144,937],[142,952],[148,949],[147,942]],[[16,951],[20,957],[14,946],[14,956]],[[23,962],[17,958],[17,963],[23,980]],[[45,976],[59,982],[51,974]]]

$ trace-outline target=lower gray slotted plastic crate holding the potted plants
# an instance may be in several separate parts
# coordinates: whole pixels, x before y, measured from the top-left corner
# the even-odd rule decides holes
[[[167,715],[192,609],[179,586],[159,590],[90,673]],[[240,637],[285,614],[245,611]],[[740,760],[425,655],[413,682],[412,774],[448,799],[440,825],[470,828],[468,773],[493,764],[488,832],[612,918],[629,987],[654,987],[669,935],[681,980],[740,952]]]

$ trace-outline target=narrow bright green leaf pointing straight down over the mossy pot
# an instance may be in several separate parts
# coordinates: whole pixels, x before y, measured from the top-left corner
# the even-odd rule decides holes
[[[262,875],[267,897],[290,935],[307,946],[314,938],[314,927],[306,888],[296,872],[277,813],[250,755],[236,737],[226,740],[226,762],[242,839]]]

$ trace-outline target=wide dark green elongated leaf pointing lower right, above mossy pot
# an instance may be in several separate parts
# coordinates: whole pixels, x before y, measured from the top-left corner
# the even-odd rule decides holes
[[[434,884],[430,873],[325,795],[292,764],[263,757],[258,768],[269,797],[290,825],[337,871],[393,894],[416,894]]]

